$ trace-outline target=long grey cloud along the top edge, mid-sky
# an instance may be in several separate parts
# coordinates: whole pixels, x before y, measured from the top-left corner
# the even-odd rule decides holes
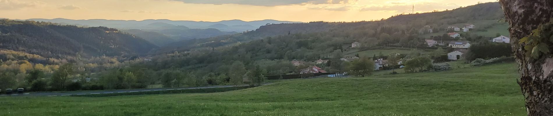
[[[347,4],[359,0],[171,0],[192,4],[292,5],[292,4]]]

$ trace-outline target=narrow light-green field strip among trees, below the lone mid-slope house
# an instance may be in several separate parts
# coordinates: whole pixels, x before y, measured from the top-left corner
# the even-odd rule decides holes
[[[400,54],[409,54],[411,52],[420,52],[421,54],[428,54],[430,51],[411,51],[411,50],[403,50],[403,49],[373,49],[373,50],[367,50],[367,51],[361,51],[361,52],[352,52],[346,54],[347,57],[353,57],[355,54],[359,54],[359,57],[373,57],[374,55],[379,56],[380,53],[384,56],[388,56],[388,54],[392,52],[398,52]]]

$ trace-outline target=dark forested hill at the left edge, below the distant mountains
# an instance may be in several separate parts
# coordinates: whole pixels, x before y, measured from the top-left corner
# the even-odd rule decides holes
[[[0,48],[38,54],[63,56],[134,56],[157,46],[108,27],[77,27],[35,21],[0,20]]]

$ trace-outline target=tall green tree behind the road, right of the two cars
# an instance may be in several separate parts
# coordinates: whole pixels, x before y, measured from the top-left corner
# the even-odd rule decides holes
[[[52,75],[51,86],[56,90],[65,90],[67,80],[74,74],[75,69],[72,63],[61,65],[60,68],[54,71],[54,74]]]

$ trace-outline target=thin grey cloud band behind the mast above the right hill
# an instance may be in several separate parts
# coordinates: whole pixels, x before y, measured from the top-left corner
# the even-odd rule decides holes
[[[432,11],[435,9],[453,9],[459,8],[459,5],[454,3],[420,3],[415,4],[416,11]],[[364,7],[361,11],[397,11],[397,12],[411,12],[413,4],[399,4],[399,5],[380,5],[372,7]]]

